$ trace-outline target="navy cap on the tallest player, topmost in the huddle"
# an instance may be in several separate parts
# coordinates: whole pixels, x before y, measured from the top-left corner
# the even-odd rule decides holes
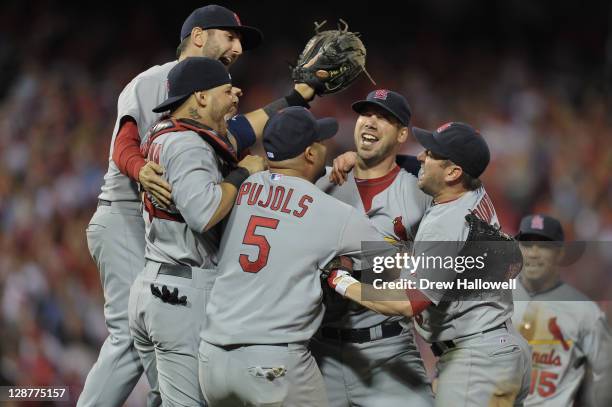
[[[216,4],[200,7],[187,17],[181,27],[181,41],[191,34],[194,27],[204,30],[217,28],[220,30],[233,30],[238,32],[242,38],[240,43],[245,51],[257,47],[263,40],[263,34],[255,27],[242,25],[238,14]]]

